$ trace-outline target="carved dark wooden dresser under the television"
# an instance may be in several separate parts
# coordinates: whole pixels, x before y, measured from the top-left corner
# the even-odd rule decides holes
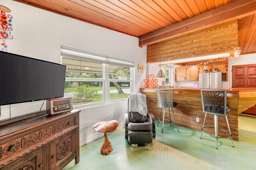
[[[79,162],[79,110],[0,127],[1,170],[59,170]]]

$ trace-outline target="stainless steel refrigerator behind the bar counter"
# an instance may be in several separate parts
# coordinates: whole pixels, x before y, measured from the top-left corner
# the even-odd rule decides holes
[[[199,73],[199,88],[222,89],[222,73]]]

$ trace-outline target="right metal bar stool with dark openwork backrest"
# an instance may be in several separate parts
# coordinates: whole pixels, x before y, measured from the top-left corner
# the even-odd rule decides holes
[[[230,137],[225,139],[231,139],[232,141],[232,147],[234,147],[232,134],[230,131],[230,127],[228,124],[228,112],[230,111],[230,108],[226,106],[226,97],[227,97],[227,91],[226,90],[201,90],[201,97],[202,97],[202,107],[204,115],[204,123],[206,119],[207,113],[214,114],[214,127],[203,127],[201,128],[201,139],[202,139],[202,133],[205,133],[209,136],[212,136],[215,138],[216,143],[216,149],[218,149],[218,138],[225,138],[218,136],[218,130],[222,130],[230,135]],[[225,116],[227,125],[228,125],[228,131],[218,128],[218,115]],[[214,128],[215,135],[209,134],[204,132],[204,128]]]

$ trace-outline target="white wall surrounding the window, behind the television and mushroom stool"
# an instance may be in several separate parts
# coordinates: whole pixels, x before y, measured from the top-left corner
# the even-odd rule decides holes
[[[60,45],[64,45],[134,61],[134,92],[139,92],[146,72],[138,73],[138,64],[146,66],[146,47],[138,47],[138,38],[14,1],[5,1],[4,5],[12,10],[10,14],[13,16],[14,39],[6,41],[8,52],[60,63]],[[38,105],[39,109],[40,106],[41,104]],[[1,108],[3,117],[6,117],[9,114],[8,106]],[[30,112],[28,107],[25,110]],[[80,145],[103,135],[92,129],[92,125],[98,121],[117,120],[120,123],[119,128],[124,127],[125,112],[126,101],[81,109]]]

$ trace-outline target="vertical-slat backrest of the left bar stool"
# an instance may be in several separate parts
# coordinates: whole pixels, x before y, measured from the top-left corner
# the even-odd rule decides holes
[[[173,92],[174,92],[174,89],[168,89],[168,90],[156,89],[158,106],[163,108],[173,108],[173,102],[172,102]]]

